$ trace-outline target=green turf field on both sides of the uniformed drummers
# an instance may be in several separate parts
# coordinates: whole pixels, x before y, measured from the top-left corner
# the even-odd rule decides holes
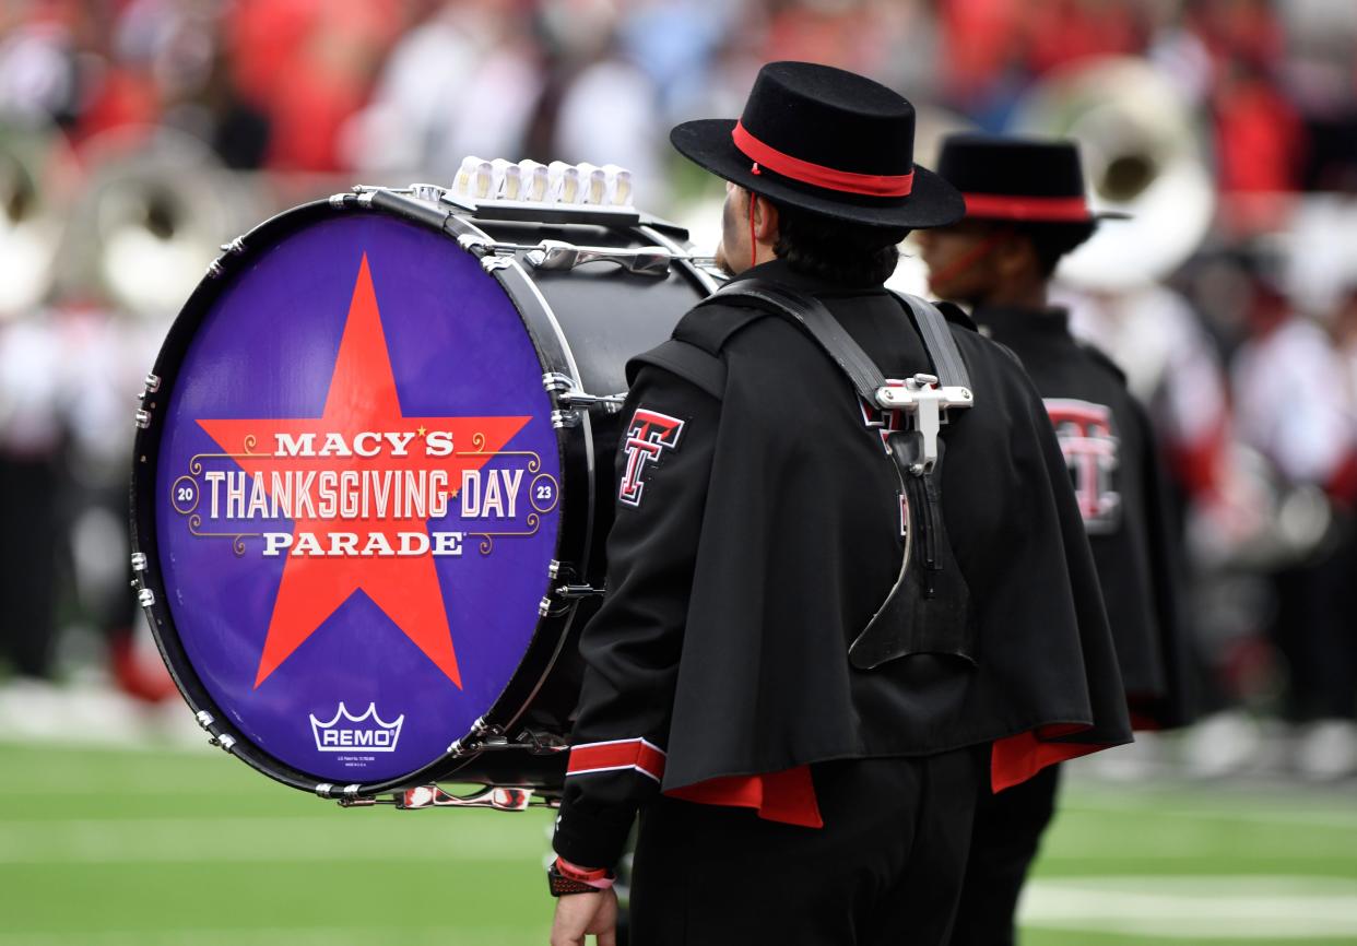
[[[1076,784],[1025,946],[1357,943],[1357,798]],[[221,753],[0,742],[0,946],[547,942],[543,812],[341,810]]]

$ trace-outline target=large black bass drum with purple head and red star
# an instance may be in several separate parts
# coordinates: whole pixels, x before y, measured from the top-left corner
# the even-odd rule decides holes
[[[214,742],[322,797],[559,791],[624,365],[715,288],[684,236],[361,189],[225,248],[133,472],[140,601]]]

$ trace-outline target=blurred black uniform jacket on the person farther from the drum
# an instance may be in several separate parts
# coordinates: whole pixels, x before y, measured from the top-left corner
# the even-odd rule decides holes
[[[1063,309],[978,308],[1046,402],[1088,531],[1137,727],[1191,722],[1181,554],[1149,418],[1102,352],[1076,342]]]

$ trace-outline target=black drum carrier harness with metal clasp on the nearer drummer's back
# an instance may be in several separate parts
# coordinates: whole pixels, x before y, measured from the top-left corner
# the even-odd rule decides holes
[[[866,352],[848,335],[814,296],[764,280],[740,280],[697,304],[734,304],[746,318],[722,326],[722,331],[685,331],[680,322],[674,337],[634,358],[628,379],[641,364],[676,372],[716,399],[725,392],[726,364],[722,345],[737,330],[763,316],[780,316],[805,331],[839,366],[854,392],[866,404],[900,411],[909,418],[904,430],[883,430],[889,455],[900,478],[905,550],[900,574],[886,600],[848,647],[848,658],[862,670],[911,654],[949,654],[974,664],[974,628],[970,590],[947,542],[942,517],[942,425],[949,411],[974,403],[970,377],[947,320],[931,303],[892,290],[923,339],[935,375],[917,373],[902,384],[887,383]],[[917,552],[915,551],[917,546]],[[911,567],[919,555],[921,567]]]

